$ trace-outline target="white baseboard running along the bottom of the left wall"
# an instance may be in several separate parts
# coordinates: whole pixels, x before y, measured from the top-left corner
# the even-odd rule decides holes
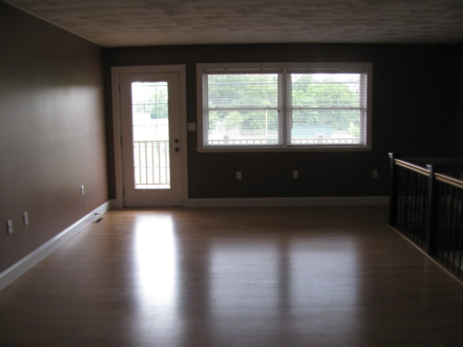
[[[64,242],[76,236],[81,230],[83,230],[83,228],[88,226],[90,223],[93,223],[93,220],[95,219],[95,213],[100,213],[100,215],[103,215],[103,213],[106,213],[108,210],[110,210],[110,208],[110,201],[103,203],[103,205],[100,205],[92,212],[83,216],[83,218],[80,218],[80,220],[66,228],[66,230],[63,230],[51,240],[48,240],[48,242],[41,245],[41,247],[38,247],[36,250],[26,255],[26,257],[19,260],[19,262],[16,262],[16,264],[12,265],[4,272],[1,272],[0,290],[4,289],[15,279],[26,273],[28,269],[31,269],[34,265],[43,260],[44,257],[51,254],[51,252],[63,245]]]

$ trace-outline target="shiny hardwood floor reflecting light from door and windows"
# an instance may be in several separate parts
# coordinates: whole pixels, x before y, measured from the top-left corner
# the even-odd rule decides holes
[[[462,346],[384,207],[111,210],[0,292],[0,346]]]

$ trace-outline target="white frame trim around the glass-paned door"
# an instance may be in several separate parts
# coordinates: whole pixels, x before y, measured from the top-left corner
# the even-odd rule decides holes
[[[113,208],[124,207],[123,195],[123,160],[122,160],[122,129],[120,114],[120,75],[125,73],[179,73],[180,76],[180,154],[182,165],[182,205],[188,200],[187,173],[187,85],[185,65],[146,65],[146,66],[115,66],[111,68],[111,87],[113,95],[113,137],[116,198],[111,200]]]

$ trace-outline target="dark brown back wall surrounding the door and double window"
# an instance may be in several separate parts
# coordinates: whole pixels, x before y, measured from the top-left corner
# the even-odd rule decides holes
[[[197,119],[196,63],[373,63],[373,149],[368,152],[198,153],[188,132],[190,198],[385,196],[388,151],[406,156],[452,155],[454,46],[211,45],[105,49],[105,71],[124,65],[187,65],[187,118]],[[110,81],[107,80],[110,119]],[[108,132],[110,151],[111,132]],[[110,154],[111,156],[111,154]],[[378,169],[379,178],[372,178]],[[300,178],[293,180],[291,172]],[[243,171],[236,181],[235,171]],[[110,166],[110,195],[115,197]]]

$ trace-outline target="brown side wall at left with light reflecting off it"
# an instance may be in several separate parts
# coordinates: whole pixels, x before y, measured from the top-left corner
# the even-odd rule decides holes
[[[3,272],[108,201],[108,188],[101,48],[0,1],[0,52]]]

